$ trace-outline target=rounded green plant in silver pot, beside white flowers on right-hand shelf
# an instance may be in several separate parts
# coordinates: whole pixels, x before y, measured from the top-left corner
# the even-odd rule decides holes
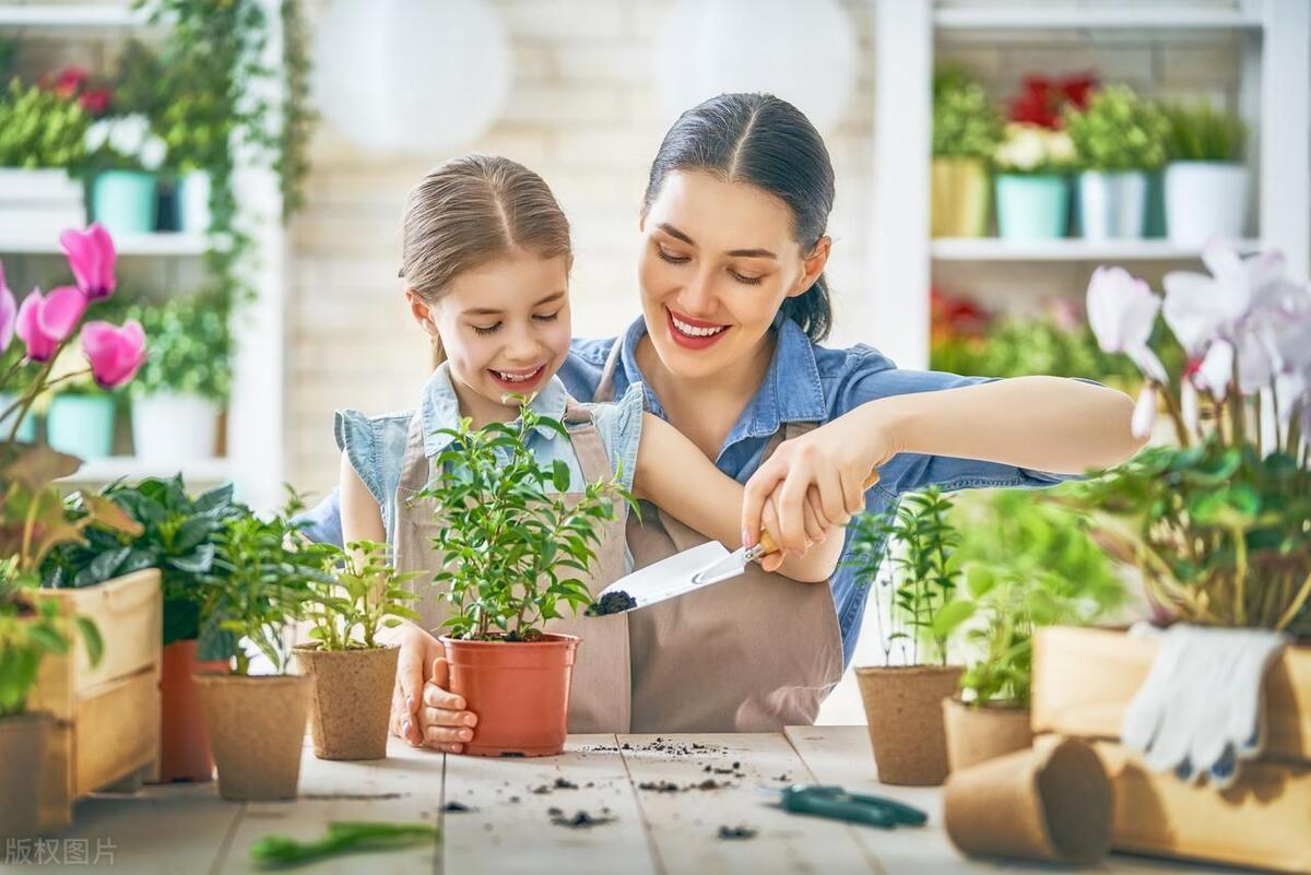
[[[1155,170],[1165,162],[1169,122],[1125,85],[1096,92],[1082,113],[1067,106],[1065,124],[1086,170]]]

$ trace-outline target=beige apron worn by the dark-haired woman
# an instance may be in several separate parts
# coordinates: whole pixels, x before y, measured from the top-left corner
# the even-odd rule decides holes
[[[595,401],[614,397],[616,341]],[[766,457],[813,423],[789,423]],[[708,538],[642,502],[628,520],[641,568]],[[633,732],[776,732],[814,723],[842,679],[842,634],[827,582],[797,583],[751,563],[732,580],[628,614]]]

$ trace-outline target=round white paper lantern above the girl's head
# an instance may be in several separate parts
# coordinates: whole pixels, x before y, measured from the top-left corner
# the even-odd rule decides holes
[[[484,0],[333,0],[315,34],[315,102],[371,151],[465,145],[501,114],[513,80],[505,28]]]

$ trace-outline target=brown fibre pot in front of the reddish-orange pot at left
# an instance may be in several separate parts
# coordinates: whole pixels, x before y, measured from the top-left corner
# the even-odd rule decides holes
[[[195,682],[219,766],[219,795],[241,800],[294,798],[309,713],[309,679],[197,675]]]

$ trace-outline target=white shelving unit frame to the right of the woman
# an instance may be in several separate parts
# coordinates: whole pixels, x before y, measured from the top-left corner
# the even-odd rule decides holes
[[[928,234],[929,136],[935,37],[1045,41],[1068,35],[1171,35],[1226,30],[1242,41],[1238,109],[1251,130],[1259,238],[1247,251],[1280,249],[1289,272],[1311,267],[1311,4],[1306,0],[1235,0],[1230,8],[1083,0],[1071,7],[996,4],[939,7],[935,0],[874,0],[874,199],[871,221],[869,321],[880,350],[903,367],[927,367],[928,293],[935,263],[1089,265],[1196,263],[1198,251],[1165,240],[1092,242],[1067,238],[1012,244],[998,238]],[[1061,33],[1068,31],[1068,33]],[[1063,45],[1063,43],[1062,43]],[[914,83],[915,86],[907,86]]]

